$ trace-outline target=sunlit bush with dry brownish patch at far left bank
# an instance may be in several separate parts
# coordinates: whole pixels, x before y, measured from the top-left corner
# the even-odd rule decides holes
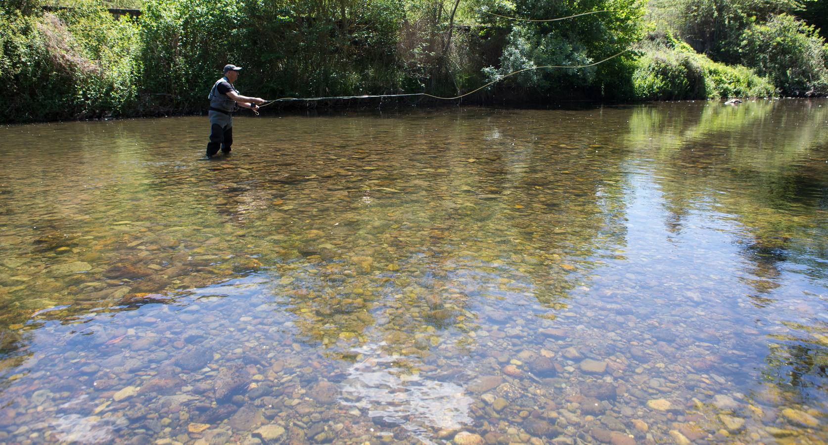
[[[84,4],[73,11],[0,11],[0,71],[14,94],[0,97],[2,122],[128,113],[137,95],[137,27]]]

